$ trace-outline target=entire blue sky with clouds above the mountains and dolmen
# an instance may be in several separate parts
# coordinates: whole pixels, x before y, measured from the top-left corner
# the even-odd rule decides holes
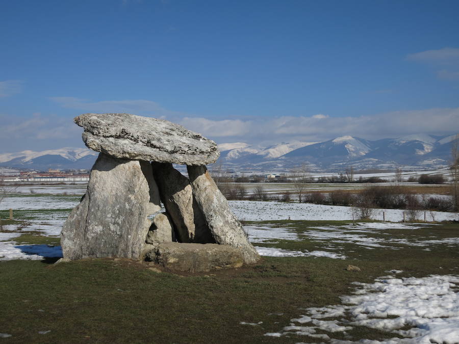
[[[0,152],[128,112],[223,142],[459,131],[457,1],[3,1]]]

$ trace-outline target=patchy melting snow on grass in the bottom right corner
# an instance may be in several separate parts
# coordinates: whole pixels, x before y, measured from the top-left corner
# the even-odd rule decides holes
[[[401,271],[388,272],[396,274]],[[333,339],[333,332],[346,334],[353,326],[365,326],[404,338],[383,341],[362,339],[360,342],[364,343],[457,343],[459,276],[431,275],[400,279],[391,275],[377,278],[374,283],[353,284],[358,285],[358,288],[353,292],[354,295],[341,297],[343,305],[306,308],[306,314],[291,319],[290,326],[279,332],[265,333],[265,336],[281,337],[295,333],[344,344],[351,342]],[[344,316],[351,320],[321,320]],[[412,328],[400,330],[405,326]],[[326,331],[328,334],[317,334],[317,330]]]

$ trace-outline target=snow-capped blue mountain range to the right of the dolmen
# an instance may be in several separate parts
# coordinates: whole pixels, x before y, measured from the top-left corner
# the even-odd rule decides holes
[[[396,139],[365,140],[341,136],[318,143],[281,143],[264,149],[244,146],[222,153],[221,160],[228,167],[246,170],[277,171],[308,163],[311,169],[342,170],[353,165],[365,168],[440,168],[449,164],[451,142],[455,135],[440,137],[426,134]],[[295,145],[298,145],[295,147]]]

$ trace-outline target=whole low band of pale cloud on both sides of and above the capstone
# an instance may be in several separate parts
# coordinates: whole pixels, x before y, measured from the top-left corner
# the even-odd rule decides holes
[[[279,142],[318,142],[350,135],[369,140],[396,138],[411,134],[451,135],[459,132],[459,108],[398,111],[385,114],[333,117],[313,116],[255,117],[218,119],[182,115],[148,100],[99,101],[65,97],[54,98],[64,107],[93,112],[131,112],[140,110],[152,117],[167,117],[217,143],[242,142],[268,145]],[[136,110],[137,109],[137,110]],[[164,114],[173,114],[165,116]],[[73,116],[1,116],[0,149],[51,149],[83,146],[82,128]]]

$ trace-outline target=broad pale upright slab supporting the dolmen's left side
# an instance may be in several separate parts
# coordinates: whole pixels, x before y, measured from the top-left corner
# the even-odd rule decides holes
[[[62,228],[64,257],[138,259],[151,224],[147,216],[160,209],[150,187],[155,181],[149,163],[99,154],[86,194]]]

